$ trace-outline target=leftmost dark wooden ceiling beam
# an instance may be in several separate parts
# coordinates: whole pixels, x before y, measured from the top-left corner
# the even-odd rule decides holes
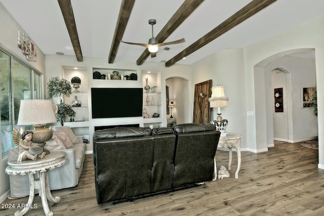
[[[79,37],[76,30],[73,9],[70,0],[58,0],[62,15],[65,21],[67,31],[69,32],[74,53],[78,62],[83,62],[82,51],[80,47]]]

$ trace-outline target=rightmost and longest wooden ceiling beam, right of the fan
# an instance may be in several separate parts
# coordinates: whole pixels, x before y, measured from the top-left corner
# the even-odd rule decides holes
[[[191,53],[195,52],[196,50],[200,49],[201,47],[204,47],[209,42],[213,41],[220,35],[224,34],[231,28],[235,27],[239,23],[245,21],[252,15],[258,13],[262,9],[266,8],[267,6],[274,3],[276,0],[254,0],[248,5],[246,5],[244,8],[240,9],[238,12],[236,12],[234,15],[232,15],[230,18],[222,22],[220,25],[218,25],[216,28],[205,34],[203,37],[200,37],[198,40],[196,40],[193,44],[191,44],[189,47],[181,51],[179,54],[174,56],[172,59],[166,62],[166,67],[170,67],[174,65],[176,62],[180,61],[184,57],[190,55]]]

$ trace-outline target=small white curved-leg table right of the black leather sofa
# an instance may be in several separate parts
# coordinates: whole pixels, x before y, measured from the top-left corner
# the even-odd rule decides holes
[[[238,171],[241,166],[241,138],[242,135],[240,134],[232,134],[227,133],[226,136],[221,136],[219,138],[218,147],[228,148],[229,149],[229,160],[228,160],[228,170],[231,170],[231,163],[232,163],[232,147],[236,148],[237,152],[237,169],[235,172],[235,179],[238,179]],[[217,151],[216,151],[217,152]],[[217,168],[216,168],[216,155],[214,158],[214,178],[213,181],[217,179]]]

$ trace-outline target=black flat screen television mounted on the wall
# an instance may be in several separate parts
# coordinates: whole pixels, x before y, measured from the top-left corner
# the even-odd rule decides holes
[[[92,118],[142,116],[142,88],[91,88]]]

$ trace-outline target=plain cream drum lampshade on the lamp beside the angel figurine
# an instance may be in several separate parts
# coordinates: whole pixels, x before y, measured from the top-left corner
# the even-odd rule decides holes
[[[18,125],[48,124],[57,122],[51,100],[21,100]]]

